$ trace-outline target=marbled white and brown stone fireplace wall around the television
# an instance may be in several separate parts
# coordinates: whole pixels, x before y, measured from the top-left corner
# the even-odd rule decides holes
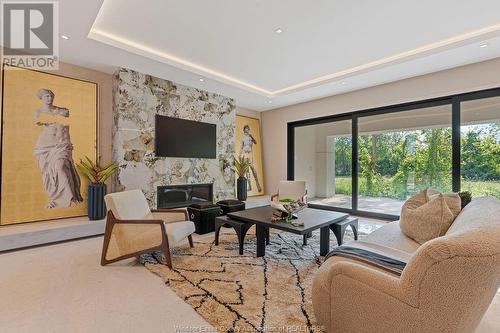
[[[151,208],[160,185],[213,183],[214,200],[234,197],[232,99],[124,68],[115,73],[113,96],[115,191],[141,189]],[[155,156],[156,114],[216,124],[217,158]]]

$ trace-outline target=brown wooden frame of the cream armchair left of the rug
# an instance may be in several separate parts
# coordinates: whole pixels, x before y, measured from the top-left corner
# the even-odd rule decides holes
[[[153,210],[152,212],[153,213],[154,212],[175,213],[175,214],[184,213],[186,221],[189,221],[188,213],[186,210],[183,210],[183,209],[156,209],[156,210]],[[113,258],[111,260],[107,260],[106,254],[108,252],[109,242],[111,240],[111,233],[113,231],[113,227],[116,224],[138,224],[138,225],[156,224],[156,225],[159,225],[161,233],[162,233],[161,244],[147,248],[147,249],[143,249],[140,251],[124,254],[122,256],[119,256],[117,258]],[[189,246],[193,247],[192,235],[187,236],[187,238],[189,240]],[[113,214],[113,212],[111,210],[108,211],[108,214],[106,216],[106,229],[104,231],[104,242],[102,245],[102,254],[101,254],[101,265],[102,266],[108,265],[108,264],[111,264],[111,263],[114,263],[114,262],[117,262],[117,261],[120,261],[123,259],[137,257],[137,256],[140,256],[141,254],[150,253],[153,251],[162,251],[165,255],[166,265],[169,268],[172,268],[172,258],[170,256],[170,247],[168,244],[168,237],[167,237],[167,232],[165,229],[165,222],[163,220],[160,220],[160,219],[120,220],[120,219],[117,219],[115,217],[115,215]]]

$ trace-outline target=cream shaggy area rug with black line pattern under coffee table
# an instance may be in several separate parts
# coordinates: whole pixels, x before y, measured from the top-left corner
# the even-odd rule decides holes
[[[360,225],[360,237],[373,231]],[[350,228],[345,241],[353,239]],[[173,249],[173,270],[160,253],[143,255],[141,262],[159,275],[185,302],[220,332],[320,332],[311,303],[313,276],[319,257],[319,230],[302,246],[302,237],[271,233],[265,257],[256,258],[254,228],[238,255],[235,234],[222,234]],[[330,248],[337,245],[331,233]]]

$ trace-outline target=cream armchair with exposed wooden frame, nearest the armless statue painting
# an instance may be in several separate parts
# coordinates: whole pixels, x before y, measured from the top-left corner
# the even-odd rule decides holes
[[[187,237],[193,247],[195,227],[186,209],[151,211],[141,190],[107,194],[104,201],[108,215],[101,265],[159,250],[172,268],[170,246]]]

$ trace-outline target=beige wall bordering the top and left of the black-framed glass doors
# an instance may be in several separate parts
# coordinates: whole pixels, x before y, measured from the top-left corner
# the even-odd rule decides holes
[[[286,179],[290,121],[500,87],[500,58],[372,88],[275,109],[261,114],[266,188]]]

